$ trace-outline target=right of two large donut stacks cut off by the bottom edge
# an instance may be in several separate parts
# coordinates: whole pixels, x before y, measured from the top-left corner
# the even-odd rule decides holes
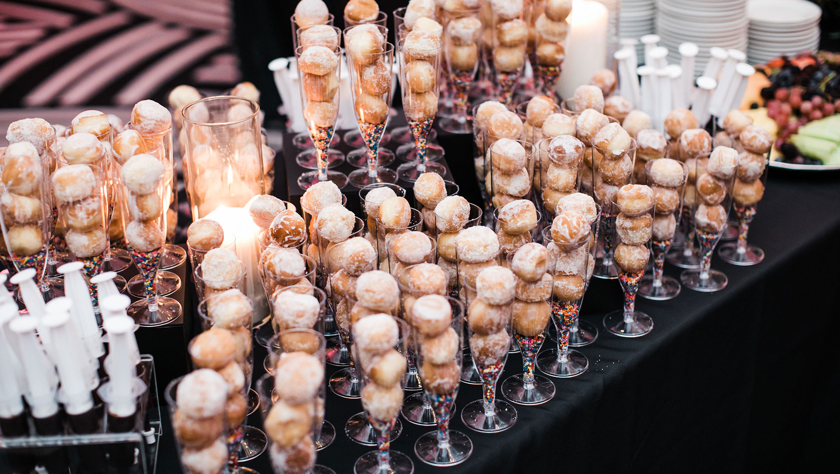
[[[318,451],[312,436],[323,420],[323,371],[323,362],[304,351],[283,352],[276,362],[272,394],[277,400],[265,414],[263,427],[271,440],[271,464],[278,472],[308,472],[315,465]]]

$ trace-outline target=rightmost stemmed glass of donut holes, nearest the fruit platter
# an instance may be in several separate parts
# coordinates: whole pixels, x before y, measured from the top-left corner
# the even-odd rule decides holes
[[[768,169],[767,156],[750,152],[738,156],[738,177],[732,188],[732,211],[738,218],[738,237],[735,242],[727,242],[717,250],[724,262],[749,266],[764,260],[764,250],[748,244],[747,234],[759,201],[764,197]]]

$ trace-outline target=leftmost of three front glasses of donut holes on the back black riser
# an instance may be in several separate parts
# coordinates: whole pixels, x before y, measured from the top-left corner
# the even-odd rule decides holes
[[[335,122],[339,117],[338,86],[330,86],[330,77],[341,76],[341,48],[335,44],[312,44],[295,49],[297,76],[300,80],[303,118],[312,144],[318,152],[317,168],[297,178],[302,190],[321,181],[333,181],[344,188],[347,175],[328,169],[329,144],[333,141]]]

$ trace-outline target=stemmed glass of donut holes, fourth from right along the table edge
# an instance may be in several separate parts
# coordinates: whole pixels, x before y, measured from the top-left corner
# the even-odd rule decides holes
[[[644,336],[654,328],[654,320],[636,310],[636,294],[650,259],[655,210],[656,197],[647,185],[625,185],[612,196],[615,218],[609,232],[615,243],[614,258],[624,305],[604,316],[604,327],[616,336]]]

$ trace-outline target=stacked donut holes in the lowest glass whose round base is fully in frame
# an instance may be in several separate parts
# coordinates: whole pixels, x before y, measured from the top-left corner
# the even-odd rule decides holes
[[[417,298],[409,319],[420,341],[423,388],[434,395],[451,395],[458,389],[460,369],[455,357],[460,336],[452,328],[452,306],[439,294]]]

